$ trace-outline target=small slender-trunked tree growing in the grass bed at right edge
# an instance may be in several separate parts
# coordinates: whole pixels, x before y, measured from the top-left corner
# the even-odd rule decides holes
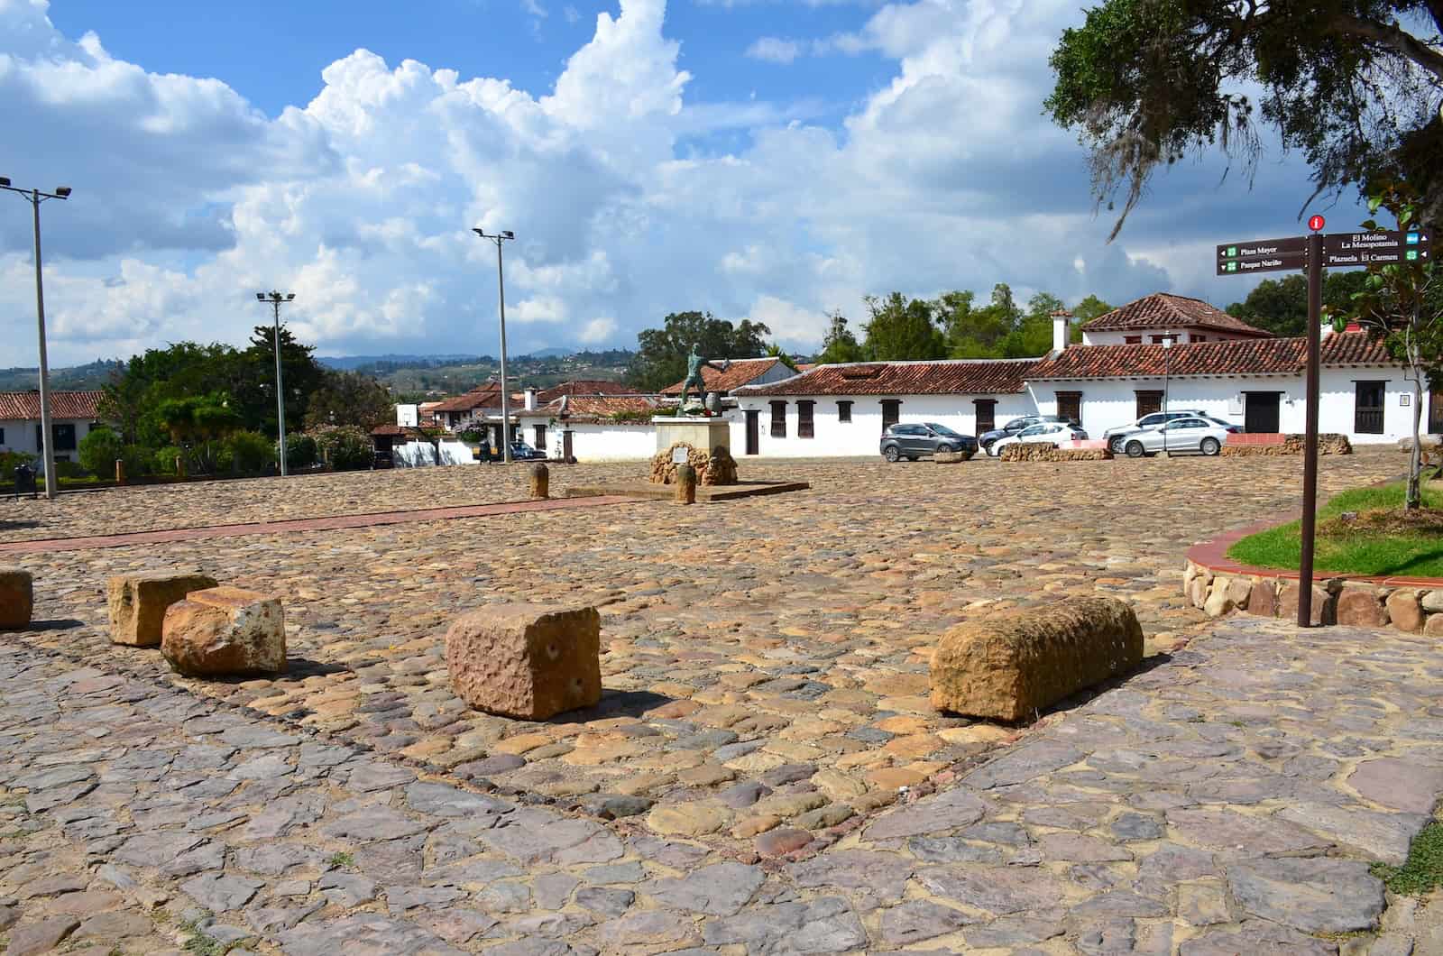
[[[1418,195],[1404,183],[1387,183],[1369,196],[1368,211],[1387,209],[1398,230],[1417,228]],[[1387,231],[1377,220],[1362,228]],[[1413,383],[1413,452],[1408,456],[1408,488],[1404,510],[1423,507],[1423,396],[1443,381],[1443,270],[1436,263],[1403,261],[1368,266],[1362,290],[1354,296],[1352,316],[1332,315],[1335,331],[1346,328],[1349,318],[1359,322],[1388,352],[1407,368]]]

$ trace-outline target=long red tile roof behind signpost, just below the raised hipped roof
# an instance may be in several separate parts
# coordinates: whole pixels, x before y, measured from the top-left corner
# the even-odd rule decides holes
[[[1167,354],[1170,351],[1170,354]],[[1235,339],[1162,345],[1074,345],[1038,362],[1029,381],[1130,378],[1134,375],[1296,375],[1307,358],[1303,338]],[[1323,365],[1392,365],[1381,342],[1364,332],[1323,339]]]

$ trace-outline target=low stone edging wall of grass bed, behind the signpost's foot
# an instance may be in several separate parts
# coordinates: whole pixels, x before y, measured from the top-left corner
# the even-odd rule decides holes
[[[1247,611],[1266,618],[1297,617],[1299,582],[1268,575],[1224,575],[1188,562],[1183,594],[1209,617]],[[1443,588],[1385,588],[1367,581],[1328,578],[1313,585],[1312,622],[1392,627],[1443,635]]]

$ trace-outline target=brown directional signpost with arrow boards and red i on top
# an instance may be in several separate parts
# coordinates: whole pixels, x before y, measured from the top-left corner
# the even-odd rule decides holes
[[[1392,263],[1426,263],[1433,254],[1433,234],[1332,233],[1326,220],[1307,221],[1310,235],[1248,240],[1218,247],[1219,276],[1260,271],[1307,270],[1307,413],[1303,438],[1303,549],[1297,563],[1297,625],[1310,627],[1313,615],[1313,527],[1317,518],[1317,351],[1323,310],[1323,269],[1358,269]]]

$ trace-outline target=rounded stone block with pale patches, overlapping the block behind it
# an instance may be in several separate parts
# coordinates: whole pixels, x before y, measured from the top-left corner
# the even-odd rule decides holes
[[[208,588],[166,608],[160,654],[186,677],[286,672],[286,617],[280,598]]]

